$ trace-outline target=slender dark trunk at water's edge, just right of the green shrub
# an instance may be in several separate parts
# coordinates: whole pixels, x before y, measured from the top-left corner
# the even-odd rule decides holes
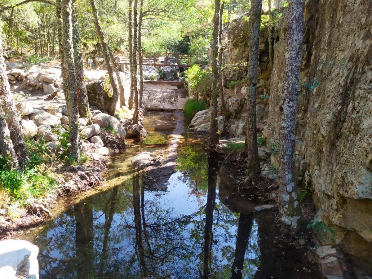
[[[211,43],[211,68],[212,68],[212,96],[211,96],[211,129],[209,147],[215,149],[219,144],[218,118],[217,118],[217,96],[218,96],[218,27],[219,27],[219,0],[214,1],[213,35]]]

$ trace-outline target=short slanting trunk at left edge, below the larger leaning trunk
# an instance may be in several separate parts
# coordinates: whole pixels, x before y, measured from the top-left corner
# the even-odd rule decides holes
[[[3,158],[9,157],[12,167],[19,169],[18,156],[16,155],[13,142],[10,140],[10,131],[6,123],[6,115],[0,106],[0,155]]]

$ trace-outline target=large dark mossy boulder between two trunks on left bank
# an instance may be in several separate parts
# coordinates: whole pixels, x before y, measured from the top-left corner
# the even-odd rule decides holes
[[[109,108],[112,91],[109,84],[102,80],[95,80],[87,84],[87,94],[89,105],[96,106],[99,109]]]

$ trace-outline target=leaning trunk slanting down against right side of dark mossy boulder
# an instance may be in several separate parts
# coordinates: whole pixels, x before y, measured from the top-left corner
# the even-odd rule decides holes
[[[116,78],[113,74],[113,69],[112,69],[113,66],[110,61],[110,48],[106,42],[105,36],[103,35],[103,30],[102,30],[101,23],[98,17],[96,0],[90,0],[90,5],[92,6],[94,26],[96,28],[97,37],[102,46],[103,58],[105,59],[105,64],[107,67],[107,71],[108,71],[109,78],[110,78],[110,84],[112,87],[112,97],[111,97],[111,102],[110,102],[109,108],[107,109],[107,112],[109,115],[114,115],[116,103],[118,102],[118,98],[119,98],[118,82],[116,81]]]

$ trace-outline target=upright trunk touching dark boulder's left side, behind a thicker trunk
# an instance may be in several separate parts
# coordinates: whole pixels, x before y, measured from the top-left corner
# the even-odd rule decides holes
[[[83,54],[81,52],[81,39],[79,24],[76,14],[75,7],[76,0],[73,0],[73,10],[72,10],[72,25],[73,25],[73,45],[74,45],[74,62],[75,62],[75,72],[77,79],[77,98],[78,98],[78,109],[80,117],[85,117],[88,119],[88,124],[92,124],[92,117],[90,115],[89,102],[87,88],[85,86],[84,78],[84,67],[83,67]]]

